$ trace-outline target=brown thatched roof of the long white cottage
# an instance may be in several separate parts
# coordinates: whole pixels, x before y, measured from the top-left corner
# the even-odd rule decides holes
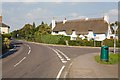
[[[63,22],[56,22],[53,31],[63,30],[66,31],[67,34],[72,34],[73,30],[75,30],[77,34],[87,34],[89,30],[101,34],[107,32],[108,23],[104,21],[104,18],[68,20],[64,24]]]

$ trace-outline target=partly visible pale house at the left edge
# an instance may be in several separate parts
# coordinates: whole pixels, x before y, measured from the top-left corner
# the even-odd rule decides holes
[[[10,27],[2,22],[2,16],[0,16],[0,33],[9,33]]]

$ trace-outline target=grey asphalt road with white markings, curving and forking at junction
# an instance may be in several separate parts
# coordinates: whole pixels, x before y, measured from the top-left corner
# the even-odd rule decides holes
[[[75,48],[15,41],[17,50],[2,59],[3,78],[66,78],[72,60],[100,52],[99,48]]]

